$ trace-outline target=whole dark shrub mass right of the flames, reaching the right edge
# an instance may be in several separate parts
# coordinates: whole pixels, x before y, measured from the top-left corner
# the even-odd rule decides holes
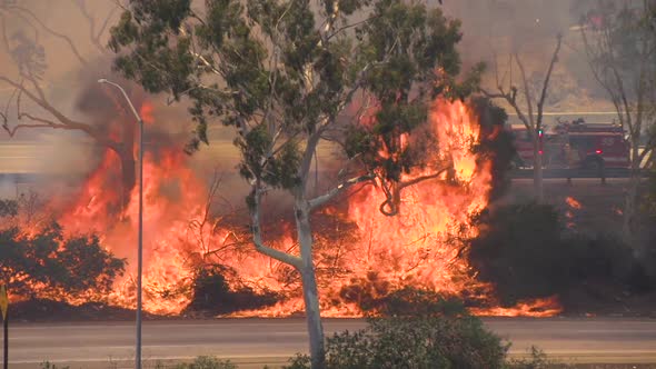
[[[547,205],[513,205],[475,219],[469,262],[493,282],[504,305],[571,290],[619,289],[644,292],[650,282],[640,265],[615,237],[571,233]]]

